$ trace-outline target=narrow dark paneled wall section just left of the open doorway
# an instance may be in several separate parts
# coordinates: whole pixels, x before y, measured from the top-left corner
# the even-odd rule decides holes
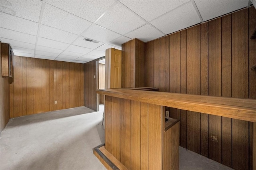
[[[97,111],[96,69],[96,60],[84,64],[84,106],[95,111]]]

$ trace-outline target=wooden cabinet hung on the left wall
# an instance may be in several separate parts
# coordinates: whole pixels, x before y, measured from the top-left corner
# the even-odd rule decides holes
[[[12,47],[9,44],[2,43],[2,76],[13,77],[12,66]]]

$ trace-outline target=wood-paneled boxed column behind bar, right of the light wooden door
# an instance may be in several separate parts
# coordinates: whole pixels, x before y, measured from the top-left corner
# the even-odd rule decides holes
[[[142,65],[149,63],[145,61],[144,48],[145,43],[139,39],[122,44],[122,88],[144,87],[147,79],[141,75],[148,70]]]

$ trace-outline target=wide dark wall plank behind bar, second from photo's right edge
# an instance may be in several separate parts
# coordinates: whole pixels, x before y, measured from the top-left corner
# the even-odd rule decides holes
[[[248,98],[248,9],[232,14],[232,97]],[[232,119],[232,168],[249,167],[249,123]]]

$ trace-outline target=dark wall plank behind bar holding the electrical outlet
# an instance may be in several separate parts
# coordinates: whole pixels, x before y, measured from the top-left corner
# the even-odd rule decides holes
[[[221,96],[221,18],[209,24],[209,95]],[[221,117],[209,115],[209,158],[222,162]]]

